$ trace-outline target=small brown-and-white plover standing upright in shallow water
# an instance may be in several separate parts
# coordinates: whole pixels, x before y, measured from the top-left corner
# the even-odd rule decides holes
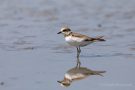
[[[80,47],[87,46],[88,44],[96,41],[105,41],[103,39],[103,36],[98,36],[95,38],[89,37],[80,33],[72,32],[71,29],[68,27],[61,28],[60,32],[58,32],[57,34],[63,34],[66,42],[71,46],[75,46],[77,48],[77,58],[79,58],[79,55],[81,53]]]

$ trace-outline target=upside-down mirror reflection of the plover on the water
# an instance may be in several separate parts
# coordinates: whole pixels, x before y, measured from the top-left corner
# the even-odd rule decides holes
[[[84,79],[90,75],[99,75],[103,76],[102,73],[105,73],[105,71],[96,71],[88,69],[87,67],[81,67],[80,66],[80,60],[77,59],[77,64],[75,67],[69,69],[65,75],[64,79],[61,81],[58,81],[62,86],[68,87],[71,85],[73,81]]]

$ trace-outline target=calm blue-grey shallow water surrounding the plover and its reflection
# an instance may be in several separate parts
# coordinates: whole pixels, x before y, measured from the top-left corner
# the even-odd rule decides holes
[[[82,48],[82,66],[105,70],[70,90],[135,89],[134,0],[0,0],[0,89],[62,90],[76,49],[57,35],[62,26],[106,42]]]

